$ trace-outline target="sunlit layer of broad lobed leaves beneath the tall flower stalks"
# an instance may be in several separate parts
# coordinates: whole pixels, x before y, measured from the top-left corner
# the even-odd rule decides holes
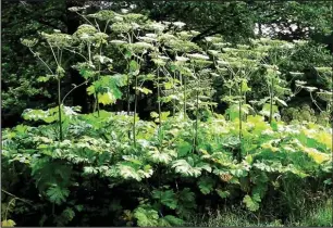
[[[225,143],[231,136],[237,138],[233,122],[210,117],[208,122],[200,123],[202,128],[199,128],[198,136],[202,144],[198,145],[198,152],[193,153],[187,142],[192,139],[188,135],[190,121],[166,118],[162,128],[162,148],[153,147],[160,137],[158,126],[140,121],[138,131],[144,130],[144,134],[138,135],[138,144],[134,149],[123,134],[125,123],[128,123],[127,126],[131,124],[130,116],[107,112],[101,112],[100,117],[94,115],[78,114],[69,119],[64,129],[67,139],[62,142],[57,141],[57,135],[49,131],[54,127],[53,124],[44,126],[44,129],[40,126],[40,130],[28,126],[5,130],[3,162],[32,168],[32,177],[39,191],[47,195],[50,203],[63,210],[69,206],[69,201],[75,199],[69,189],[77,188],[73,180],[79,176],[84,179],[106,178],[113,186],[110,191],[123,189],[123,183],[131,185],[126,189],[136,193],[131,193],[133,197],[130,198],[136,199],[135,195],[139,194],[153,205],[135,211],[138,225],[143,226],[166,226],[166,216],[160,217],[158,213],[161,207],[170,210],[180,218],[187,218],[196,211],[196,199],[200,195],[218,195],[224,200],[233,197],[232,189],[236,188],[240,192],[245,191],[240,195],[244,195],[246,207],[258,211],[269,197],[267,188],[272,181],[278,193],[289,178],[307,181],[307,178],[325,180],[330,177],[330,132],[328,128],[314,124],[285,125],[279,122],[273,128],[258,116],[248,116],[249,121],[244,123],[243,128],[248,156],[237,163],[233,157],[233,147]],[[74,126],[81,126],[84,130],[77,130]],[[221,145],[219,141],[224,143]],[[17,150],[17,147],[24,147],[24,150]],[[276,176],[281,177],[276,180]],[[151,188],[150,185],[157,178],[161,178],[160,187],[153,183],[156,187],[149,197],[145,193],[146,189]],[[294,181],[292,179],[289,181]],[[178,187],[171,187],[174,181]],[[192,189],[201,193],[183,186],[183,181],[194,181]],[[224,187],[221,188],[222,183]],[[169,187],[163,189],[162,186]],[[78,201],[75,204],[82,203]],[[75,218],[77,213],[69,215]],[[59,216],[71,218],[61,214]],[[171,225],[173,221],[168,223]]]

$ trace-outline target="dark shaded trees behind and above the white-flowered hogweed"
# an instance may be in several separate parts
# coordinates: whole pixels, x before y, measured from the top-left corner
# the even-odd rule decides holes
[[[110,4],[112,2],[112,4]],[[130,9],[144,13],[156,21],[182,21],[188,29],[200,31],[194,40],[200,43],[205,36],[221,34],[230,42],[246,42],[254,38],[256,23],[259,25],[259,36],[263,27],[279,27],[280,31],[271,30],[270,36],[283,40],[310,40],[310,45],[291,58],[284,71],[299,71],[305,74],[303,80],[309,85],[318,85],[316,74],[311,68],[318,65],[332,64],[333,53],[333,16],[330,1],[85,1],[85,0],[45,0],[45,1],[2,1],[2,33],[1,33],[1,126],[13,127],[22,122],[23,110],[46,109],[54,106],[57,99],[53,85],[39,84],[36,78],[45,73],[44,66],[33,56],[20,38],[38,36],[38,31],[59,29],[73,34],[81,21],[67,8],[90,4],[91,11],[100,9]],[[293,27],[296,25],[296,28]],[[324,46],[324,48],[322,48]],[[320,48],[321,47],[321,48]],[[62,87],[63,93],[71,85],[78,85],[83,77],[71,68],[75,62],[67,56],[67,77]],[[69,105],[81,105],[83,113],[91,110],[90,98],[86,88],[81,87],[71,96]],[[293,103],[308,103],[316,109],[309,94],[301,92]],[[122,110],[122,104],[112,110]],[[147,117],[151,111],[148,102],[139,101],[139,115]],[[224,106],[219,105],[218,112]]]

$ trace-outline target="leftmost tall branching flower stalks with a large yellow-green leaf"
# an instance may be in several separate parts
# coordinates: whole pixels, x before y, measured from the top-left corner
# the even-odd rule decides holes
[[[90,23],[91,24],[91,23]],[[89,94],[95,94],[96,105],[98,103],[110,104],[114,103],[116,98],[121,97],[121,92],[118,89],[120,86],[124,86],[122,75],[116,75],[116,77],[106,76],[101,78],[101,64],[107,64],[110,68],[112,60],[102,55],[102,45],[106,43],[108,35],[97,30],[92,25],[82,25],[78,27],[77,31],[73,35],[60,34],[55,30],[54,34],[45,34],[41,33],[41,37],[46,40],[48,47],[51,50],[52,56],[57,64],[57,68],[52,71],[52,66],[47,64],[47,61],[42,60],[38,52],[34,52],[32,50],[33,46],[36,43],[34,40],[23,39],[23,45],[27,46],[29,50],[34,53],[36,58],[48,68],[51,73],[50,75],[39,77],[39,81],[48,81],[52,78],[55,78],[58,81],[58,123],[59,123],[59,139],[63,140],[63,111],[62,106],[64,105],[64,101],[67,96],[79,86],[91,83],[92,86],[88,88]],[[87,51],[85,51],[87,50]],[[74,85],[74,88],[71,89],[63,98],[61,98],[61,79],[65,75],[64,67],[62,65],[63,52],[70,51],[83,58],[85,62],[78,63],[73,67],[79,68],[81,74],[86,79],[81,85]],[[86,52],[86,53],[85,53]],[[109,63],[109,64],[108,64]],[[98,66],[98,67],[96,67]],[[110,92],[112,90],[112,92]],[[100,98],[100,99],[99,99]],[[100,101],[98,101],[100,100]],[[96,106],[95,105],[95,106]],[[64,107],[64,110],[70,111],[71,107]],[[73,110],[78,111],[77,107]],[[99,106],[98,106],[99,111]],[[70,111],[71,112],[71,111]],[[32,111],[28,110],[24,114],[24,117],[27,119],[38,119],[38,115],[44,113],[45,115],[50,115],[48,118],[48,123],[54,121],[52,119],[55,111],[49,110],[47,112],[44,111]]]

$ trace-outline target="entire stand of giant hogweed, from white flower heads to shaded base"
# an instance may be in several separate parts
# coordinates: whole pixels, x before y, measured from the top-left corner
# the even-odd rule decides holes
[[[329,85],[320,88],[284,71],[307,41],[194,42],[198,31],[182,22],[70,10],[85,23],[73,35],[22,38],[58,99],[2,131],[3,226],[192,226],[212,211],[232,224],[218,214],[198,225],[332,225],[330,119],[281,117],[299,92],[332,112],[332,68],[314,68]],[[84,80],[63,93],[67,55]],[[87,114],[66,100],[83,86]],[[147,119],[143,98],[155,106]],[[120,102],[126,109],[112,112]],[[231,221],[233,207],[248,223]]]

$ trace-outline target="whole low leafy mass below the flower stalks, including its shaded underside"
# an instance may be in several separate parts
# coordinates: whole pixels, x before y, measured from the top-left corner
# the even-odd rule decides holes
[[[27,176],[12,174],[13,180],[26,181],[22,190],[16,189],[22,182],[4,188],[33,198],[28,199],[33,208],[24,202],[18,205],[35,211],[35,219],[65,225],[78,216],[86,221],[83,226],[94,224],[89,215],[94,212],[100,218],[112,214],[114,220],[109,223],[116,224],[125,213],[132,225],[180,225],[205,208],[203,199],[211,206],[243,202],[256,212],[273,195],[282,203],[279,206],[297,213],[305,206],[297,202],[306,203],[311,200],[308,194],[324,188],[323,181],[330,183],[331,134],[314,124],[280,122],[271,127],[261,116],[249,116],[243,128],[244,159],[238,163],[237,123],[223,116],[199,122],[194,150],[192,121],[170,117],[161,127],[138,121],[134,147],[126,136],[131,116],[104,111],[96,115],[72,115],[63,141],[58,141],[53,124],[4,131],[2,162],[9,164],[4,167],[27,172]],[[38,191],[32,191],[35,185]],[[35,193],[26,195],[27,191]],[[96,204],[100,200],[106,202]],[[15,212],[13,216],[21,221]]]

